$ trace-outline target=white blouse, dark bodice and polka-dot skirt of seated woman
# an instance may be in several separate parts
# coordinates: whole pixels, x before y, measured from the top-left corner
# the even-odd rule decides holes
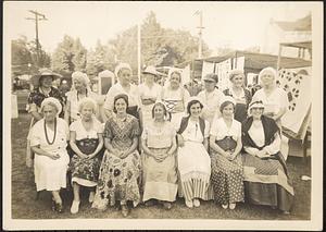
[[[216,136],[215,143],[224,150],[234,150],[241,138],[241,123],[233,120],[228,127],[223,118],[216,119],[211,127],[211,135]],[[223,155],[211,149],[214,199],[220,204],[243,202],[243,168],[241,156],[229,161]]]

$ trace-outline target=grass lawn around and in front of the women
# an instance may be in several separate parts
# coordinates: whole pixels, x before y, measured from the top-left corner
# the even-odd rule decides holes
[[[30,117],[20,113],[12,120],[12,218],[13,219],[73,219],[73,218],[123,218],[115,208],[106,211],[91,209],[87,191],[83,191],[79,212],[71,215],[72,192],[62,191],[65,210],[59,215],[52,212],[51,194],[42,192],[36,200],[33,170],[25,166],[26,137]],[[291,148],[290,148],[291,152]],[[235,210],[224,210],[213,202],[202,202],[199,208],[189,209],[184,199],[178,198],[171,210],[161,206],[146,207],[139,205],[131,210],[128,218],[138,219],[251,219],[251,220],[310,220],[311,181],[302,181],[301,175],[311,176],[311,163],[302,158],[289,157],[287,160],[289,175],[294,187],[294,206],[291,215],[283,215],[268,207],[239,204]],[[82,193],[83,193],[82,192]]]

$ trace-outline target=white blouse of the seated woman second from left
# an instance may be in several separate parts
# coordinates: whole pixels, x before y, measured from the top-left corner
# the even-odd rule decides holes
[[[76,132],[76,141],[80,141],[83,138],[98,138],[98,134],[102,134],[104,129],[100,121],[92,118],[92,127],[89,131],[84,127],[82,120],[73,122],[70,130]]]

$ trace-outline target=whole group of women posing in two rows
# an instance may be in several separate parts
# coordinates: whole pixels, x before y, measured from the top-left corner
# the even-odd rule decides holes
[[[28,142],[37,191],[52,192],[53,210],[63,210],[60,190],[68,170],[72,213],[79,210],[80,186],[90,190],[92,208],[118,204],[124,217],[140,203],[171,209],[177,195],[189,208],[214,199],[235,209],[246,200],[289,212],[294,194],[279,151],[287,97],[275,86],[274,69],[261,71],[263,88],[252,98],[237,70],[229,75],[231,88],[221,91],[217,75],[208,74],[204,90],[195,97],[178,70],[170,70],[164,87],[154,83],[155,68],[143,75],[141,85],[133,85],[130,66],[117,65],[118,82],[104,102],[82,72],[73,73],[66,100],[45,87],[58,74],[46,70],[35,77],[39,87],[28,103],[37,122]],[[103,123],[97,118],[101,105]],[[27,152],[29,167],[33,152]]]

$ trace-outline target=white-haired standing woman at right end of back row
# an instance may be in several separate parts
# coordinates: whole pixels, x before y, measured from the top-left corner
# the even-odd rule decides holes
[[[252,97],[253,101],[262,100],[265,107],[264,115],[273,119],[281,129],[281,117],[286,113],[289,100],[285,90],[276,86],[276,70],[265,68],[259,74],[262,88]]]

